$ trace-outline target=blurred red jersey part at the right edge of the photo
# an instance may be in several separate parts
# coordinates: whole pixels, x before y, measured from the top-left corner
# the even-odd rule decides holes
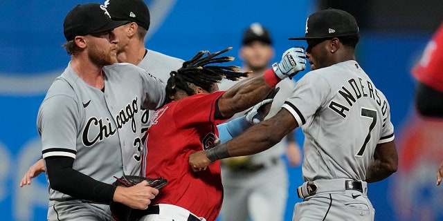
[[[443,92],[442,64],[443,23],[428,42],[419,63],[413,68],[413,76],[423,84]]]

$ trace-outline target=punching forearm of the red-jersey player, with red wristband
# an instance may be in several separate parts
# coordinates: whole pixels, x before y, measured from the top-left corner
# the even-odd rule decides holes
[[[278,81],[280,79],[271,69],[266,70],[264,75],[240,81],[226,90],[219,98],[218,105],[221,115],[228,117],[257,104],[271,92]]]

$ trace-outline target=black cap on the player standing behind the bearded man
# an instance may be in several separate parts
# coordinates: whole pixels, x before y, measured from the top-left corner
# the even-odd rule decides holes
[[[116,21],[131,21],[146,30],[150,28],[150,10],[143,0],[107,0],[103,5]]]

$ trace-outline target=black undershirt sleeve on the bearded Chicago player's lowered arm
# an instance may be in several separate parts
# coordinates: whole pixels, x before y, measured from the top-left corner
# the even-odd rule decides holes
[[[109,203],[114,198],[116,186],[94,180],[72,168],[71,157],[46,157],[46,173],[52,189],[79,200]]]

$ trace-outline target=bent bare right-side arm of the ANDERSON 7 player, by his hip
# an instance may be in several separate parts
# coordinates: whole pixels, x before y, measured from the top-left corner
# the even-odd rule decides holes
[[[397,171],[398,156],[395,142],[377,144],[374,152],[374,164],[368,168],[366,182],[378,182]]]

